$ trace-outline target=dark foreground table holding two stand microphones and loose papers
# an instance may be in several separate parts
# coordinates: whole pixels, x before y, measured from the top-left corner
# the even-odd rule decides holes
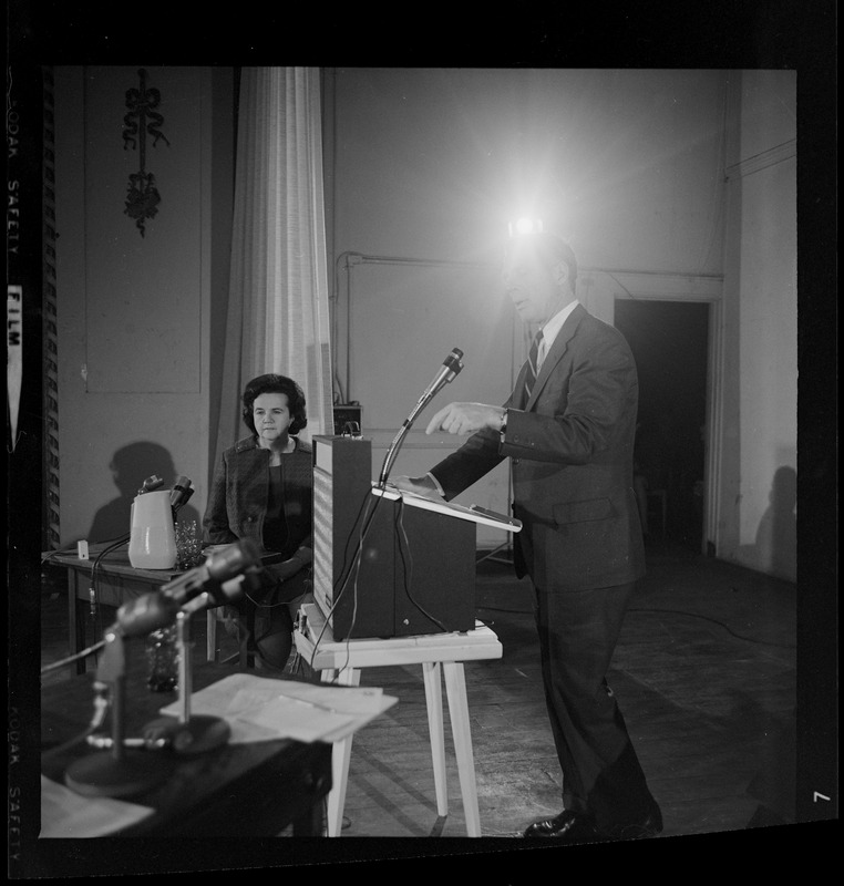
[[[124,723],[126,738],[132,738],[141,735],[144,725],[159,717],[158,710],[176,700],[176,693],[147,689],[142,640],[126,645],[125,661]],[[238,670],[209,663],[196,649],[192,661],[195,690]],[[85,742],[62,749],[81,735],[91,721],[93,682],[93,674],[83,674],[42,690],[41,771],[60,784],[74,761],[107,753]],[[279,739],[226,743],[196,754],[172,750],[136,753],[158,755],[166,776],[136,794],[120,797],[152,807],[154,813],[109,836],[270,837],[288,825],[292,825],[295,836],[325,833],[322,805],[331,786],[331,744]]]

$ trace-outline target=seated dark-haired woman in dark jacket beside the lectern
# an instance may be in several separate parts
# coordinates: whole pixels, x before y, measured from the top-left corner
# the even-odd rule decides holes
[[[286,375],[259,375],[244,391],[243,420],[250,433],[216,466],[204,539],[226,545],[250,538],[261,548],[265,585],[234,608],[244,616],[255,607],[253,648],[263,667],[282,670],[313,560],[311,446],[296,437],[308,423],[305,394]]]

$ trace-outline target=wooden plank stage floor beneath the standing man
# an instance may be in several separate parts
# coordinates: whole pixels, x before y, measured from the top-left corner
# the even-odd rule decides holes
[[[653,545],[648,560],[609,683],[662,808],[661,838],[792,822],[795,587],[680,546]],[[64,591],[49,590],[42,663],[66,655]],[[531,594],[508,565],[478,564],[477,617],[504,648],[465,667],[488,837],[517,837],[562,807]],[[194,624],[202,645],[204,619]],[[66,669],[44,679],[68,679]],[[361,683],[399,703],[354,738],[342,837],[465,836],[447,729],[450,806],[436,813],[421,666],[364,670]]]

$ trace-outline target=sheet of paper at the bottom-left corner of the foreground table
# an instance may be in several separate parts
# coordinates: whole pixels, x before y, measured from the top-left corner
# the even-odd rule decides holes
[[[152,814],[147,806],[112,797],[82,796],[41,776],[41,838],[103,837]]]

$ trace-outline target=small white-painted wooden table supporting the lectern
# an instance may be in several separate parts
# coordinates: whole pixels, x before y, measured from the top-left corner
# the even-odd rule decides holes
[[[474,630],[464,632],[452,631],[416,637],[373,638],[339,642],[333,639],[331,628],[326,626],[319,606],[315,604],[302,606],[301,614],[305,618],[300,617],[294,635],[296,648],[313,670],[321,672],[323,682],[336,680],[343,686],[358,686],[362,668],[391,664],[422,666],[428,704],[428,729],[434,767],[436,812],[441,816],[449,813],[442,707],[442,680],[445,680],[454,751],[457,758],[457,774],[463,796],[463,812],[466,817],[466,833],[471,837],[481,836],[463,662],[501,658],[503,650],[495,633],[478,621]],[[328,796],[328,836],[338,836],[342,826],[351,744],[351,735],[334,742],[333,787]]]

